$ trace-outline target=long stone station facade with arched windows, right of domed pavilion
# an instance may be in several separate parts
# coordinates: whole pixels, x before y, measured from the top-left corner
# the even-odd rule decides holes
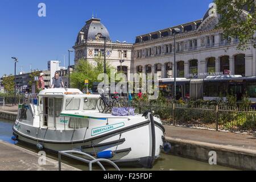
[[[238,39],[223,40],[222,31],[215,28],[217,23],[217,16],[205,15],[195,22],[137,36],[133,46],[133,71],[150,72],[147,67],[151,67],[151,72],[158,73],[159,78],[174,77],[172,67],[167,65],[174,65],[174,28],[179,28],[177,77],[195,78],[224,70],[232,75],[256,76],[255,40],[248,44],[246,51],[238,51]]]

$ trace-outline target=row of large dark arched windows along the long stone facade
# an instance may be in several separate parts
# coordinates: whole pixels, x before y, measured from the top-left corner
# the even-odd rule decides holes
[[[197,75],[198,74],[198,60],[190,60],[189,61],[189,74]],[[152,73],[152,66],[150,64],[145,66],[146,73]],[[137,72],[142,72],[142,65],[137,67]],[[172,71],[172,63],[168,62],[165,64],[165,69],[168,71]],[[177,62],[177,77],[187,77],[184,75],[184,61]],[[206,63],[206,70],[208,73],[216,72],[216,59],[215,57],[209,57]],[[230,70],[229,64],[229,56],[220,57],[220,72],[224,72],[225,70]],[[162,64],[155,64],[155,72],[162,71]],[[234,56],[234,74],[245,76],[245,55],[239,54]],[[166,76],[168,77],[168,76]]]

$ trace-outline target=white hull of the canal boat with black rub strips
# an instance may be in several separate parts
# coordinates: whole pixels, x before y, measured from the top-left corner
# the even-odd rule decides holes
[[[150,119],[125,124],[93,135],[94,130],[90,128],[55,130],[33,127],[16,121],[13,131],[18,141],[34,146],[40,143],[43,150],[79,150],[95,157],[98,152],[113,151],[114,156],[110,160],[118,166],[152,168],[163,146],[164,127],[160,122]],[[118,125],[118,122],[111,125]]]

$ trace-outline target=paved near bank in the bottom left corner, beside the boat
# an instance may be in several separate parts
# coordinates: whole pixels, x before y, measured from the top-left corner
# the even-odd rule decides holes
[[[57,171],[59,163],[46,158],[46,163],[40,165],[40,155],[25,148],[15,146],[0,140],[0,171]],[[79,171],[79,169],[61,163],[61,171]]]

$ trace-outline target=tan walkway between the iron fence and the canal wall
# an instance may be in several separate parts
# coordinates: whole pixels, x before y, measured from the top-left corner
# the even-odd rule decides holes
[[[250,135],[166,125],[164,127],[166,138],[169,140],[233,148],[233,150],[256,154],[256,133]]]

